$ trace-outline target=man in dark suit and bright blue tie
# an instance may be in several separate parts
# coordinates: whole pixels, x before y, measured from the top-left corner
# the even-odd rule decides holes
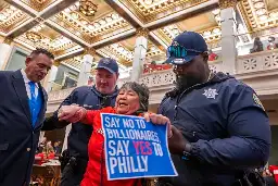
[[[0,71],[0,185],[28,185],[40,128],[47,110],[47,92],[40,80],[53,64],[53,54],[34,50],[26,67]]]

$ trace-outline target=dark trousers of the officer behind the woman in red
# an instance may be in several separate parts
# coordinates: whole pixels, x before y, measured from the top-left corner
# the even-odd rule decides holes
[[[67,163],[62,172],[61,186],[79,186],[88,161],[78,160],[75,165]]]

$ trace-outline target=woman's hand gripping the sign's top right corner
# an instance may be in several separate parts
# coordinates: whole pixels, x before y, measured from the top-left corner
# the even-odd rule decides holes
[[[170,129],[170,121],[168,117],[163,116],[162,114],[150,114],[144,113],[143,117],[147,122],[152,122],[155,125],[167,125],[167,137],[170,138],[173,136],[172,129]]]

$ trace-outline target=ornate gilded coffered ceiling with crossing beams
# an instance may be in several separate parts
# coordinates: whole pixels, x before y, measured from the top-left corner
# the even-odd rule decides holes
[[[30,50],[47,48],[75,69],[85,51],[128,67],[140,29],[148,32],[148,61],[163,60],[165,48],[184,30],[218,47],[219,12],[218,0],[0,0],[0,36]],[[242,0],[237,14],[245,33],[275,27],[278,1]]]

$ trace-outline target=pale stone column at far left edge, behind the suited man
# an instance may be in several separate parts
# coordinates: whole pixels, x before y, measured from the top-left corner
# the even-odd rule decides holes
[[[0,71],[3,71],[5,67],[5,62],[8,61],[12,47],[11,47],[12,40],[9,38],[5,38],[3,44],[0,44]]]

